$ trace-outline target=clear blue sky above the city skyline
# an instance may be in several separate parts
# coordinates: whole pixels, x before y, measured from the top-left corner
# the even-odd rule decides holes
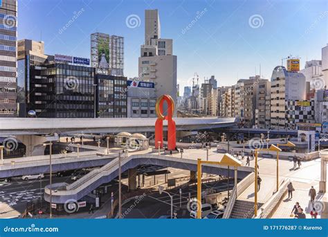
[[[219,85],[259,73],[271,77],[288,55],[321,59],[327,45],[327,0],[18,0],[19,39],[45,42],[46,54],[90,58],[90,34],[125,37],[125,76],[138,76],[140,44],[144,42],[144,10],[158,9],[161,37],[174,40],[178,82],[190,85],[215,75]],[[73,16],[73,24],[60,33]],[[197,19],[197,14],[199,18]],[[129,15],[140,26],[129,28]],[[192,23],[192,20],[197,22]],[[254,21],[251,21],[254,19]],[[256,20],[259,21],[256,21]],[[257,25],[257,23],[259,23]],[[184,29],[191,26],[186,32]],[[42,34],[41,34],[42,32]]]

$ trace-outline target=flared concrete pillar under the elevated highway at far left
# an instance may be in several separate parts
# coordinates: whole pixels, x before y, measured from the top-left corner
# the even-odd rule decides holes
[[[42,146],[42,143],[48,141],[46,137],[37,135],[17,135],[17,139],[26,146],[27,157],[44,155],[46,147]]]

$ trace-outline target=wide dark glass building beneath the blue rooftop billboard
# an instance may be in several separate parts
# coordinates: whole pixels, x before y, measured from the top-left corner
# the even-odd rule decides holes
[[[30,103],[43,118],[93,118],[95,69],[48,63],[30,67]]]

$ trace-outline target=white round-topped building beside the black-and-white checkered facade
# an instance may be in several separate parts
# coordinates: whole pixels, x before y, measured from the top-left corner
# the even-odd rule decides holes
[[[284,129],[294,124],[286,120],[287,102],[305,100],[306,82],[302,73],[286,71],[277,66],[271,76],[271,128]]]

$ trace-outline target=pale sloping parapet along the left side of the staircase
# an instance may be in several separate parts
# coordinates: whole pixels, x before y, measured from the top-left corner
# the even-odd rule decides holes
[[[233,211],[233,206],[235,205],[235,201],[240,194],[242,194],[250,184],[253,184],[255,179],[255,173],[250,173],[241,182],[237,184],[237,186],[233,187],[233,191],[231,192],[231,198],[228,201],[226,209],[224,210],[224,216],[222,218],[228,219],[230,218],[231,212]],[[237,195],[236,195],[237,193]]]

